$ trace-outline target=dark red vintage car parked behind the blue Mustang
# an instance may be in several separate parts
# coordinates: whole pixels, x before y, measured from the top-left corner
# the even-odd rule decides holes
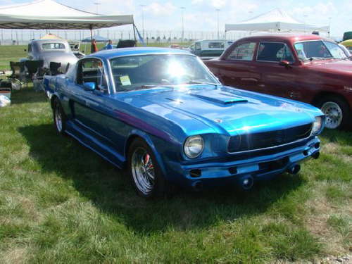
[[[328,128],[351,124],[352,61],[329,39],[315,34],[245,37],[205,63],[223,84],[318,106]]]

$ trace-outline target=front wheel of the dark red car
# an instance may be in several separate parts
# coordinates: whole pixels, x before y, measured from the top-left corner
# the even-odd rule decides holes
[[[348,125],[350,109],[344,99],[339,96],[324,96],[317,103],[322,113],[325,114],[325,127],[329,129],[341,129]]]

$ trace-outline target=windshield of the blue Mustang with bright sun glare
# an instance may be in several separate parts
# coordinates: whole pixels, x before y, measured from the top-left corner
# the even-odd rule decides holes
[[[196,56],[152,54],[112,58],[110,62],[117,92],[145,89],[159,84],[219,84]]]

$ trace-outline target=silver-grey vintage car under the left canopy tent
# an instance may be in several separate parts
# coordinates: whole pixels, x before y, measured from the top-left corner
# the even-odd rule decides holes
[[[28,44],[28,58],[21,61],[44,61],[44,67],[49,68],[51,62],[61,63],[61,72],[64,72],[68,63],[73,65],[78,58],[73,54],[70,45],[63,39],[37,39]]]

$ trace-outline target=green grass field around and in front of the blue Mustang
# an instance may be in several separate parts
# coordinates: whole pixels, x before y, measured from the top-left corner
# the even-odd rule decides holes
[[[2,48],[0,51],[2,51]],[[1,53],[2,54],[2,53]],[[352,132],[248,194],[144,201],[120,170],[52,124],[44,94],[0,108],[0,263],[274,263],[351,253]]]

